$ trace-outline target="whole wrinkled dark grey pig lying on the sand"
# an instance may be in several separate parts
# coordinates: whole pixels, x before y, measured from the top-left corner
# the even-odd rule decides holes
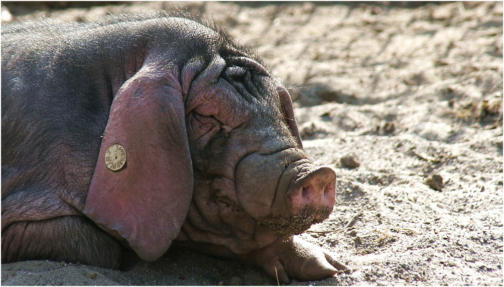
[[[286,89],[211,24],[2,27],[3,263],[118,268],[122,248],[153,261],[173,242],[283,283],[325,278],[344,266],[294,235],[329,216],[335,181],[302,150]]]

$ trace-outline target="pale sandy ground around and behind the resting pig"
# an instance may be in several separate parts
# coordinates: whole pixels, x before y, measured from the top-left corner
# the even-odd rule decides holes
[[[502,2],[177,5],[258,49],[292,87],[305,149],[337,170],[334,212],[302,237],[340,254],[351,273],[292,285],[503,284]],[[77,21],[172,6],[7,4],[14,20]],[[127,254],[120,270],[2,264],[2,285],[95,284],[276,280],[185,250],[152,263]]]

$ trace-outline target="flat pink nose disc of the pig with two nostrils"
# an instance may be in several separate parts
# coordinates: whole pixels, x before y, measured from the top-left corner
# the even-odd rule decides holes
[[[329,166],[319,166],[300,175],[287,191],[294,214],[309,206],[327,207],[332,210],[335,194],[336,173]]]

